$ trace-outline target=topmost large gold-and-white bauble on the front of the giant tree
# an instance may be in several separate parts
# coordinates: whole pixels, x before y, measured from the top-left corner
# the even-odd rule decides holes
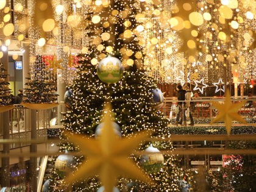
[[[118,82],[124,72],[121,61],[116,57],[108,56],[99,62],[97,75],[102,82],[106,84],[115,84]]]

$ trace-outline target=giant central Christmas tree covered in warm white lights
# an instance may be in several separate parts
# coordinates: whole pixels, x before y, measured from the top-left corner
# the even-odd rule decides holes
[[[80,55],[77,78],[71,86],[73,94],[69,98],[69,111],[62,120],[65,130],[88,137],[97,136],[104,104],[110,102],[115,115],[114,121],[118,124],[116,131],[122,137],[141,130],[152,130],[153,137],[169,137],[169,120],[160,113],[153,101],[152,92],[157,89],[156,82],[141,69],[143,49],[136,35],[139,25],[137,21],[141,19],[138,10],[140,3],[135,0],[102,1],[102,4],[92,2],[92,14],[85,21],[91,44],[87,54]],[[126,68],[124,73],[121,63]],[[118,81],[119,77],[122,78]],[[139,149],[144,151],[149,144],[151,143],[141,144]],[[160,151],[172,150],[171,142],[159,141],[153,145]],[[72,143],[63,143],[60,146],[60,151],[76,150]],[[137,180],[120,178],[117,186],[119,190],[179,190],[179,169],[174,164],[175,157],[159,153],[154,161],[149,156],[130,158],[144,168],[156,184],[148,185]],[[71,168],[73,165],[79,169],[84,157],[74,157],[74,162],[69,165],[68,159],[69,156],[57,158],[57,171],[67,174],[68,171],[64,168]],[[54,176],[51,179],[54,180],[53,183],[57,183]],[[73,191],[97,191],[99,187],[101,183],[94,177],[75,183]]]

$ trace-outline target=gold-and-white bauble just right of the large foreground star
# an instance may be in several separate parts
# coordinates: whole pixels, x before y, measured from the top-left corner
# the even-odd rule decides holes
[[[145,150],[146,152],[152,153],[143,155],[141,157],[141,165],[147,172],[158,172],[163,167],[165,158],[163,154],[157,148],[154,148],[152,144]]]

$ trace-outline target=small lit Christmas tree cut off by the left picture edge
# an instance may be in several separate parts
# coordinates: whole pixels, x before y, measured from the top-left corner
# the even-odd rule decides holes
[[[9,82],[6,82],[5,79],[8,76],[5,74],[6,69],[3,66],[3,63],[0,63],[0,106],[1,105],[12,105],[11,91],[9,89]]]

